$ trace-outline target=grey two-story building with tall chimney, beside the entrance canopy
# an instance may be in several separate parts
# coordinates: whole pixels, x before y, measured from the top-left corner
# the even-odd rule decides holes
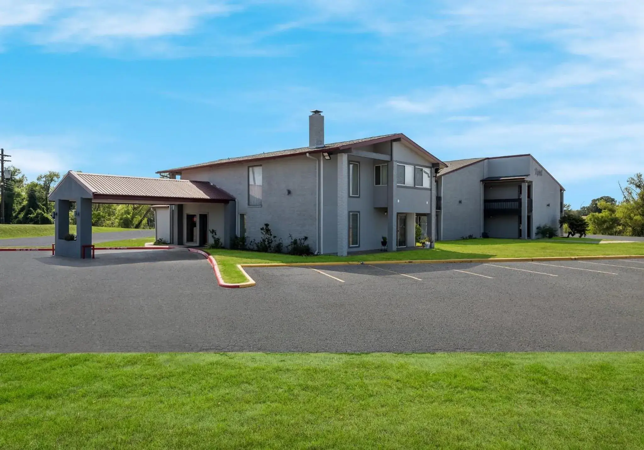
[[[259,241],[269,223],[285,243],[307,236],[321,254],[379,249],[383,238],[389,251],[414,247],[416,223],[435,239],[441,167],[446,164],[400,133],[327,144],[324,117],[312,111],[308,147],[159,171],[209,182],[234,200],[157,209],[158,223],[168,223],[157,236],[199,245],[216,229],[227,246],[235,235]]]

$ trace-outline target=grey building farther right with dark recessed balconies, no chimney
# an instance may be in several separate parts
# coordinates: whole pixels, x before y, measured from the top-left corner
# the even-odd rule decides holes
[[[564,187],[532,155],[447,161],[437,175],[438,239],[532,239],[559,228]]]

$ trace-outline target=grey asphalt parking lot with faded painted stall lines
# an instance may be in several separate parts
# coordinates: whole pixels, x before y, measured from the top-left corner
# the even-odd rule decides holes
[[[1,352],[644,350],[644,259],[249,268],[0,256]]]

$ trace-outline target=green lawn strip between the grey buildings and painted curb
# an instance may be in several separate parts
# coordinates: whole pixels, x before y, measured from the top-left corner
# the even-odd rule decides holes
[[[418,259],[536,258],[541,256],[644,255],[644,242],[601,244],[596,239],[554,238],[525,241],[521,239],[468,239],[441,241],[434,250],[375,252],[359,256],[290,256],[242,250],[206,250],[212,254],[228,283],[246,281],[238,264],[307,263],[333,261],[413,261]]]

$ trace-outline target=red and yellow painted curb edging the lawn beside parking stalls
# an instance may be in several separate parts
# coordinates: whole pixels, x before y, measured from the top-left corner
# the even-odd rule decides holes
[[[621,256],[545,256],[536,258],[471,258],[471,259],[416,259],[413,261],[334,261],[328,263],[261,263],[261,264],[238,264],[237,267],[249,280],[246,283],[225,283],[222,274],[214,257],[197,250],[189,248],[191,252],[199,253],[213,266],[214,274],[217,277],[218,285],[223,288],[249,288],[255,286],[255,281],[247,274],[244,267],[324,267],[324,266],[350,266],[363,264],[458,264],[458,263],[529,263],[533,261],[584,261],[590,259],[644,259],[644,255],[621,255]]]

